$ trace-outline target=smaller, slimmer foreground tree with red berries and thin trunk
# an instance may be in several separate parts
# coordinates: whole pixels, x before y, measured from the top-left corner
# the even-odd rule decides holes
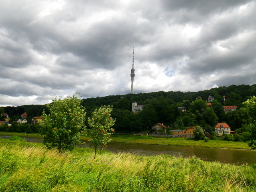
[[[110,128],[115,124],[115,119],[110,116],[113,106],[102,106],[95,109],[91,117],[88,118],[88,135],[91,137],[91,146],[94,148],[94,159],[96,158],[96,150],[98,147],[106,147],[111,141],[110,135],[114,129]]]

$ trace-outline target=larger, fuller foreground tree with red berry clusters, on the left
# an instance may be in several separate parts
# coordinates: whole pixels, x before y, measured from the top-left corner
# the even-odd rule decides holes
[[[86,133],[85,113],[77,93],[65,99],[55,97],[47,104],[49,115],[43,111],[39,133],[48,148],[57,148],[59,153],[79,145],[80,132]]]

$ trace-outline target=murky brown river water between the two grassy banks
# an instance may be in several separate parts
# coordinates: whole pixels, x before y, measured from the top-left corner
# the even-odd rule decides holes
[[[0,136],[8,139],[10,136]],[[41,143],[41,138],[25,137],[27,142]],[[89,144],[79,146],[90,147]],[[129,152],[132,154],[154,156],[159,154],[167,154],[171,156],[191,157],[196,156],[202,160],[210,162],[221,162],[228,164],[255,164],[256,151],[252,150],[234,150],[234,149],[216,149],[216,148],[198,148],[198,147],[181,147],[181,146],[163,146],[163,145],[148,145],[136,143],[108,143],[108,146],[103,150],[110,152]]]

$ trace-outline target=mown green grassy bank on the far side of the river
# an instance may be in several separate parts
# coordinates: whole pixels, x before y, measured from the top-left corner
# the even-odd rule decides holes
[[[24,133],[7,133],[0,132],[3,136],[17,135],[24,137]],[[26,134],[26,137],[38,137],[43,138],[37,133]],[[140,143],[140,144],[151,144],[151,145],[169,145],[169,146],[187,146],[187,147],[203,147],[203,148],[223,148],[223,149],[240,149],[240,150],[250,150],[247,143],[239,141],[213,141],[209,140],[207,143],[205,141],[195,141],[193,138],[186,137],[152,137],[152,136],[134,136],[134,135],[111,135],[112,142],[122,142],[122,143]],[[90,139],[87,136],[81,136],[82,140]]]

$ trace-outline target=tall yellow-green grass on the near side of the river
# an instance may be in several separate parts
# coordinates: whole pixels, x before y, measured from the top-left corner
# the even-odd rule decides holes
[[[75,148],[59,155],[42,144],[0,139],[1,192],[256,191],[253,166],[195,157],[138,156]]]

